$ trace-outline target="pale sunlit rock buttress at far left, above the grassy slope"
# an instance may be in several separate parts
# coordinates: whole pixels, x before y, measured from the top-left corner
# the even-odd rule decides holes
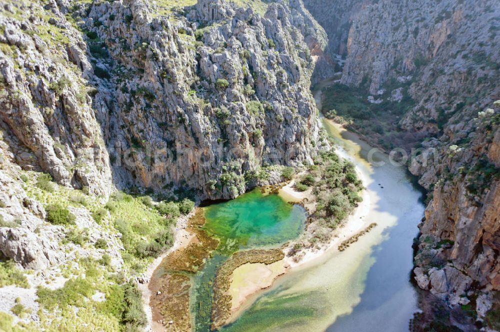
[[[106,194],[111,172],[91,108],[89,93],[96,90],[89,81],[93,71],[86,45],[55,2],[47,6],[48,21],[16,17],[19,11],[41,9],[29,2],[0,9],[0,128],[6,148],[24,169]]]

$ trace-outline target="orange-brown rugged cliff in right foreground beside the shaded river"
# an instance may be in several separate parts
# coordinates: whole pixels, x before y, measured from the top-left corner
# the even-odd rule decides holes
[[[416,280],[450,304],[490,298],[490,291],[500,290],[499,110],[449,125],[410,165],[432,191],[420,225]],[[443,282],[432,278],[437,272]],[[479,316],[490,306],[491,301],[477,305]]]

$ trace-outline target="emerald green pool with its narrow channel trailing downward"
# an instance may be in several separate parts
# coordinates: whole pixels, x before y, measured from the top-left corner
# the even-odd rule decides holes
[[[264,195],[259,189],[233,200],[204,207],[203,229],[220,239],[220,244],[203,270],[193,277],[191,311],[194,330],[210,329],[213,281],[218,267],[241,249],[277,246],[297,238],[304,229],[303,207],[285,202],[277,194]]]

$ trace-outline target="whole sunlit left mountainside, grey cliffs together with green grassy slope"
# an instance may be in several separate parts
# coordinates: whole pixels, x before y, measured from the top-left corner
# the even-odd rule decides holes
[[[187,2],[0,1],[0,281],[27,287],[7,280],[0,311],[31,309],[15,321],[143,325],[98,303],[136,296],[123,282],[185,227],[181,197],[279,182],[328,146],[309,90],[326,34],[302,1]],[[84,313],[38,311],[36,286],[82,276]]]

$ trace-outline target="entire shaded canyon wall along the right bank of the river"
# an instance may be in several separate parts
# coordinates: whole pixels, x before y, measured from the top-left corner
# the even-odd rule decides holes
[[[382,0],[353,17],[340,82],[373,95],[409,84],[415,104],[398,130],[429,137],[409,165],[430,191],[418,285],[488,326],[500,268],[500,4]]]

